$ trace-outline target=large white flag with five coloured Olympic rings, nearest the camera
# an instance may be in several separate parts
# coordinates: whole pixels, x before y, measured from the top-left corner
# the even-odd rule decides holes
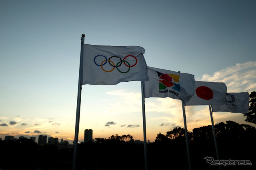
[[[83,47],[82,85],[116,85],[148,81],[145,49],[138,46],[89,45]]]

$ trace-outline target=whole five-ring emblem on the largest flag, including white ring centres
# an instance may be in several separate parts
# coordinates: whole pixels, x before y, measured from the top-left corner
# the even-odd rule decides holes
[[[120,73],[128,73],[130,68],[134,67],[137,62],[137,58],[133,55],[126,55],[124,59],[118,56],[112,56],[107,59],[104,55],[96,55],[94,57],[94,63],[107,73],[113,71],[115,68]]]

